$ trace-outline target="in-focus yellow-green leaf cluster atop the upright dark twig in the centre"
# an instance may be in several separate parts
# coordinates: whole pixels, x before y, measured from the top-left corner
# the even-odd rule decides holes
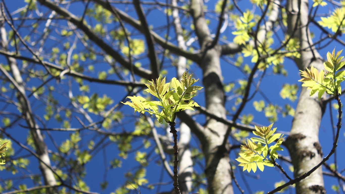
[[[127,98],[131,99],[131,102],[122,103],[134,108],[134,111],[138,111],[140,114],[148,112],[151,116],[156,115],[159,123],[162,123],[163,120],[172,123],[176,118],[176,112],[186,109],[194,110],[192,107],[199,106],[191,100],[196,96],[196,91],[203,88],[192,86],[198,80],[192,79],[192,75],[188,75],[188,71],[183,73],[181,81],[174,77],[171,79],[171,83],[166,83],[166,78],[159,76],[156,81],[152,79],[149,81],[150,84],[145,84],[148,89],[144,90],[157,97],[159,101],[146,100],[141,96],[128,96]]]

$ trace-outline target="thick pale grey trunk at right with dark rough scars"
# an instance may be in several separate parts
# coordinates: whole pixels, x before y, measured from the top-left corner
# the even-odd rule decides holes
[[[295,62],[300,70],[314,66],[319,71],[323,69],[323,60],[311,41],[308,28],[308,1],[288,0],[288,32],[297,37],[300,41],[300,58]],[[302,87],[298,99],[296,114],[292,123],[287,146],[292,163],[294,165],[295,177],[300,176],[322,160],[322,150],[319,143],[319,127],[324,113],[324,107],[317,95],[309,96],[310,91]],[[325,192],[322,168],[318,168],[310,176],[296,184],[297,194],[315,194]]]

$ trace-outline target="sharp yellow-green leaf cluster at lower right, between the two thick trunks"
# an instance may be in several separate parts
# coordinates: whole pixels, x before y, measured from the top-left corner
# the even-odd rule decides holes
[[[284,138],[280,133],[274,134],[277,128],[272,129],[272,126],[273,124],[267,127],[255,126],[253,134],[259,137],[252,137],[247,140],[246,145],[241,145],[242,153],[239,153],[236,160],[240,162],[239,166],[243,166],[243,171],[256,172],[257,167],[264,171],[264,166],[274,166],[275,159],[278,158],[277,151],[283,150],[280,145]],[[275,140],[276,143],[268,147]]]

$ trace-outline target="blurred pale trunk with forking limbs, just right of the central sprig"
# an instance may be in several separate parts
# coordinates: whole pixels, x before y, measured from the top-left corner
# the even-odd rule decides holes
[[[224,107],[225,93],[220,69],[221,49],[218,43],[207,49],[212,42],[204,17],[202,0],[191,0],[190,10],[194,19],[195,32],[203,53],[200,67],[203,70],[203,83],[207,110],[221,118],[226,118]],[[206,177],[209,194],[232,194],[229,149],[218,149],[223,143],[227,126],[215,119],[207,118],[205,125],[206,142],[201,142],[206,159]]]

